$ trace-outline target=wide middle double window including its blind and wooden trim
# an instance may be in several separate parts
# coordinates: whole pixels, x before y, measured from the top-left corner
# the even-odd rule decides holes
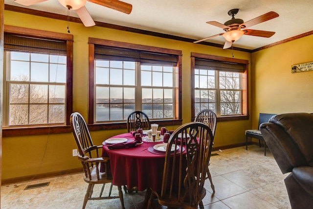
[[[164,53],[162,48],[92,38],[89,46],[94,52],[89,59],[89,123],[126,122],[135,110],[150,120],[180,119],[181,51]]]

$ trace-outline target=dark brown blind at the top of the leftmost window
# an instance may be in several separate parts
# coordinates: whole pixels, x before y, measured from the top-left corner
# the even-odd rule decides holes
[[[4,33],[4,50],[66,55],[67,43]]]

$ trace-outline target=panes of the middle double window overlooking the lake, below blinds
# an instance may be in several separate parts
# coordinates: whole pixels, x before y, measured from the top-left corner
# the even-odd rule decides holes
[[[173,118],[176,67],[95,60],[96,122],[121,121],[135,110]]]

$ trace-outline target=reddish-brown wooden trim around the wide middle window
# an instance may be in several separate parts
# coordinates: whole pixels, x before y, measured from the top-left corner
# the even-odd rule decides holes
[[[145,46],[130,44],[124,42],[117,42],[111,40],[97,39],[89,37],[89,110],[88,110],[88,124],[90,130],[103,130],[103,129],[125,129],[127,128],[126,122],[106,122],[106,123],[93,123],[94,118],[94,45],[102,46],[112,46],[120,47],[126,49],[134,50],[144,50],[149,52],[159,52],[178,55],[178,68],[179,68],[179,86],[176,89],[176,99],[175,108],[176,108],[176,117],[177,119],[172,120],[152,120],[153,122],[158,123],[160,126],[165,125],[181,125],[181,51],[175,49],[161,48],[155,46]]]

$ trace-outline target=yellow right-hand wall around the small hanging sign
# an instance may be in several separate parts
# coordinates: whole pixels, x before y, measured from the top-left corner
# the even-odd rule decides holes
[[[313,71],[291,65],[313,62],[313,35],[252,53],[252,127],[259,113],[313,112]]]

